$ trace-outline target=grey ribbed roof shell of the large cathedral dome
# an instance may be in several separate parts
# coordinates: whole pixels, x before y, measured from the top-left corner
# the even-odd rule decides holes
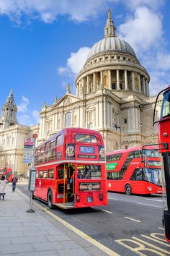
[[[87,59],[91,59],[92,56],[101,54],[104,51],[118,51],[125,54],[130,54],[136,58],[135,51],[125,40],[117,38],[117,36],[109,36],[99,42],[95,43],[89,51]]]

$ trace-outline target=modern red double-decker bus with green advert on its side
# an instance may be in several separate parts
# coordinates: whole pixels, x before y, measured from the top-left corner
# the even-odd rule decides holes
[[[148,147],[115,150],[107,153],[107,190],[131,194],[161,194],[161,158]]]

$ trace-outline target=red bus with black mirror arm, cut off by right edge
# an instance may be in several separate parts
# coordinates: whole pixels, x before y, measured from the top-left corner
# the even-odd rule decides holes
[[[163,101],[161,106],[161,116],[156,121],[156,105],[159,101],[159,96],[163,93]],[[153,124],[158,123],[158,142],[159,152],[163,158],[162,166],[162,190],[164,201],[164,216],[163,224],[165,228],[165,238],[170,242],[170,85],[168,88],[158,93],[156,98]]]

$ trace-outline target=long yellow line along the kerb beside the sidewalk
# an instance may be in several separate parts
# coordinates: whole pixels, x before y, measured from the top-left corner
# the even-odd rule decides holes
[[[62,223],[64,226],[66,226],[68,229],[71,229],[71,231],[73,231],[74,233],[78,234],[79,236],[81,236],[83,239],[85,239],[87,242],[93,244],[94,246],[96,246],[97,248],[101,249],[103,252],[105,252],[107,255],[110,256],[120,256],[117,254],[117,252],[112,251],[112,249],[109,249],[108,247],[105,247],[103,244],[97,242],[96,240],[92,239],[91,236],[88,236],[87,234],[85,234],[84,232],[80,231],[79,229],[76,229],[74,226],[72,226],[71,224],[69,224],[68,222],[64,221],[62,218],[55,216],[54,213],[51,213],[50,210],[43,208],[41,205],[38,205],[37,202],[34,202],[35,205],[37,205],[37,207],[39,207],[41,210],[43,210],[45,213],[47,213],[48,215],[52,216],[53,218],[55,218],[55,220],[59,221],[60,223]]]

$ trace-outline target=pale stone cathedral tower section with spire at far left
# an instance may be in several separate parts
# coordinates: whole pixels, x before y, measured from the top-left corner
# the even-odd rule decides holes
[[[24,137],[38,132],[38,125],[27,127],[17,122],[17,105],[12,90],[1,108],[0,117],[0,168],[10,167],[14,173],[26,174],[23,163]]]

